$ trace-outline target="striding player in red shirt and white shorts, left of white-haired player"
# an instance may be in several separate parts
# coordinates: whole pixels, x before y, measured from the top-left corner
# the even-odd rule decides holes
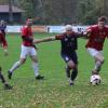
[[[33,40],[33,35],[31,30],[32,26],[32,18],[28,17],[26,19],[26,25],[22,28],[22,52],[21,52],[21,58],[18,62],[16,62],[12,68],[8,71],[8,77],[9,79],[12,78],[12,73],[15,69],[21,67],[25,62],[27,56],[29,56],[32,60],[32,68],[35,70],[35,76],[37,80],[41,80],[44,77],[39,75],[39,66],[38,66],[38,58],[37,58],[37,52],[36,52],[36,46],[32,43]]]

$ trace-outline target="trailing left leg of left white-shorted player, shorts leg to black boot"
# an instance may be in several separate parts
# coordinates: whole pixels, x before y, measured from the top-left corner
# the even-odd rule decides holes
[[[21,58],[18,62],[14,63],[14,65],[11,67],[11,69],[8,70],[8,77],[9,79],[12,78],[12,73],[14,72],[14,70],[16,70],[17,68],[19,68],[25,62],[26,62],[26,57],[28,55],[29,49],[22,45],[22,53],[21,53]]]

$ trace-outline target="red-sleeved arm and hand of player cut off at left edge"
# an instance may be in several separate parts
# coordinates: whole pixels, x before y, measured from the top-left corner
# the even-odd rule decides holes
[[[4,55],[6,56],[8,55],[8,42],[1,30],[0,30],[0,44],[3,48]]]

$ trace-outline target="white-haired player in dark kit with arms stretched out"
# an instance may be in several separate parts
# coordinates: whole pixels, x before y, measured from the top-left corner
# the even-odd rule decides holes
[[[48,37],[43,39],[36,39],[35,43],[60,40],[62,50],[60,55],[66,63],[66,73],[69,80],[69,85],[73,85],[73,81],[78,75],[78,56],[76,50],[78,49],[79,37],[82,33],[75,32],[71,25],[65,27],[65,32],[62,35],[56,35],[54,37]]]

